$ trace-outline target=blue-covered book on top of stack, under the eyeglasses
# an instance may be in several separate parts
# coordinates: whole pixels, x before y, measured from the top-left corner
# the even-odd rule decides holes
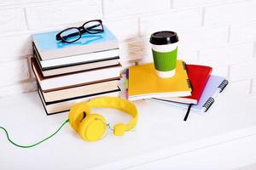
[[[56,59],[79,54],[90,54],[119,48],[118,39],[104,26],[104,31],[97,34],[84,33],[72,43],[55,39],[60,31],[39,33],[32,36],[33,42],[42,60]]]

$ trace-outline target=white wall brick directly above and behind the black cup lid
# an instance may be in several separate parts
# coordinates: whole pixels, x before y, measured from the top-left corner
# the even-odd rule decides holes
[[[149,36],[154,31],[181,31],[201,26],[202,9],[172,10],[164,14],[146,15],[140,18],[140,34]]]

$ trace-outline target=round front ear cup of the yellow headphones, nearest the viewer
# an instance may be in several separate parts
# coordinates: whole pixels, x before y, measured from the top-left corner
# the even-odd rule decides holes
[[[106,120],[98,114],[90,114],[79,124],[79,135],[87,141],[102,139],[106,130]]]

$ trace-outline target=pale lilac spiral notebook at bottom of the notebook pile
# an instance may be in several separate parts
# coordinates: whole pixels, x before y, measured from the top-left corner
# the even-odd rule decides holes
[[[193,111],[200,111],[200,112],[207,112],[209,108],[214,103],[214,99],[216,99],[217,95],[221,93],[224,88],[228,85],[228,80],[226,80],[224,77],[218,77],[211,75],[207,81],[207,85],[204,88],[203,93],[201,94],[201,98],[197,105],[192,105],[191,110]],[[172,102],[172,101],[166,101],[161,99],[150,99],[162,103],[166,103],[168,105],[175,105],[183,108],[188,108],[189,105]]]

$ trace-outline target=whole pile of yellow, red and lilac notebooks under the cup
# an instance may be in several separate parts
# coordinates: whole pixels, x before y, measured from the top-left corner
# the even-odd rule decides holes
[[[126,98],[151,99],[186,107],[188,113],[190,108],[207,112],[217,94],[229,83],[224,77],[211,73],[210,66],[186,65],[182,60],[177,60],[176,74],[171,78],[157,77],[153,63],[132,66],[126,71]]]

